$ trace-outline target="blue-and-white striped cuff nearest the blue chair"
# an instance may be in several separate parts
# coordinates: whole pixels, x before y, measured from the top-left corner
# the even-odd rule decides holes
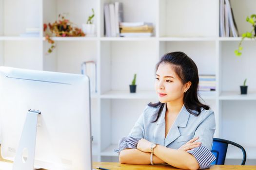
[[[200,169],[211,167],[210,164],[216,159],[215,155],[204,145],[200,145],[187,152],[191,153],[197,159]]]

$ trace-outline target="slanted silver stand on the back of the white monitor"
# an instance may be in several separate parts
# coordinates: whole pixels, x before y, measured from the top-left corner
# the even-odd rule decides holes
[[[39,114],[40,111],[28,110],[12,170],[34,170]],[[28,154],[23,156],[23,152]]]

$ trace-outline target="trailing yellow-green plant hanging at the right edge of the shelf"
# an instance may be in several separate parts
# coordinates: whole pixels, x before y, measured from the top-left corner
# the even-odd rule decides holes
[[[256,38],[256,14],[251,15],[251,17],[247,17],[246,21],[249,22],[250,24],[252,24],[253,29],[251,30],[251,32],[246,32],[242,34],[242,39],[240,40],[239,44],[238,44],[238,49],[235,50],[235,54],[236,56],[240,56],[242,54],[242,42],[244,40],[244,38],[250,38],[250,39],[255,39]],[[254,32],[254,35],[253,35]]]

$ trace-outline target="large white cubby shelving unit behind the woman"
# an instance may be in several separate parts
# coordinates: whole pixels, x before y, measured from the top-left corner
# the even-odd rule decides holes
[[[234,50],[240,37],[218,37],[218,0],[118,0],[124,20],[154,25],[154,36],[145,38],[104,37],[103,6],[115,0],[0,0],[0,65],[68,73],[80,73],[87,60],[97,62],[98,93],[92,94],[94,161],[118,161],[118,139],[128,135],[149,102],[156,102],[155,65],[169,51],[184,51],[197,64],[199,74],[216,74],[217,91],[200,92],[202,102],[215,111],[215,137],[245,147],[256,161],[254,113],[256,103],[256,41],[245,39],[243,54]],[[255,13],[255,0],[231,0],[239,33],[251,29],[245,18]],[[81,27],[94,8],[95,37],[53,37],[57,47],[45,40],[43,23],[68,13]],[[27,27],[39,27],[39,37],[20,37]],[[137,93],[129,93],[137,73]],[[239,85],[247,78],[248,95]],[[227,158],[241,155],[229,148]]]

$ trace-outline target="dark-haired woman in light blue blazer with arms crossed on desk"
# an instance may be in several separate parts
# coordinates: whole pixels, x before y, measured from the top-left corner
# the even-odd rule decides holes
[[[119,162],[168,163],[181,169],[208,168],[215,132],[214,112],[199,102],[197,66],[183,52],[165,54],[156,67],[158,103],[149,103],[130,134],[119,140]]]

